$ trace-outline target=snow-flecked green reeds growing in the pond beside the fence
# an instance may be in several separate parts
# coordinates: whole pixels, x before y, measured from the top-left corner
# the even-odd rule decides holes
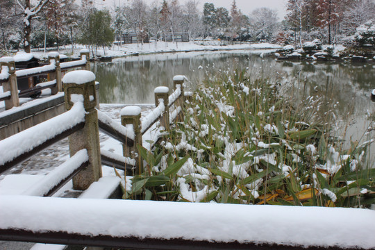
[[[368,207],[371,141],[343,149],[320,105],[292,103],[280,86],[245,72],[210,76],[162,142],[141,149],[145,172],[126,179],[124,198]]]

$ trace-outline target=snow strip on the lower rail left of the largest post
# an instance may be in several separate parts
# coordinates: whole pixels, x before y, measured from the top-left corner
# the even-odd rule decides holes
[[[81,149],[65,163],[53,169],[47,176],[44,176],[37,185],[26,190],[22,195],[50,196],[53,194],[52,191],[57,191],[54,189],[60,187],[60,183],[66,183],[72,178],[74,173],[86,167],[88,160],[88,150]]]

